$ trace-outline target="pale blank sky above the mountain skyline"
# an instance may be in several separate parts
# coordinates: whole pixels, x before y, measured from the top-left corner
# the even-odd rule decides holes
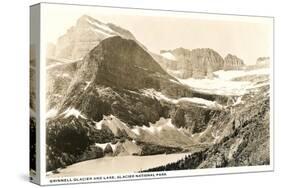
[[[150,51],[183,47],[212,48],[254,64],[261,56],[272,56],[273,19],[136,9],[43,4],[41,32],[55,43],[82,15],[129,30]]]

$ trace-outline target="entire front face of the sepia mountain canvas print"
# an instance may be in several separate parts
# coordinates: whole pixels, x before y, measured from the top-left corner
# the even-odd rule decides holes
[[[41,16],[46,178],[272,165],[272,17]]]

